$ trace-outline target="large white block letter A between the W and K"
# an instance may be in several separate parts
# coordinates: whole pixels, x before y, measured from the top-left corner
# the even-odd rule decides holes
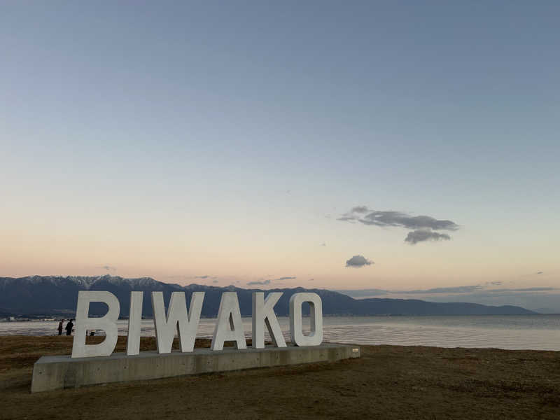
[[[223,343],[226,341],[235,341],[237,349],[247,348],[239,301],[235,292],[222,293],[211,349],[223,350]]]

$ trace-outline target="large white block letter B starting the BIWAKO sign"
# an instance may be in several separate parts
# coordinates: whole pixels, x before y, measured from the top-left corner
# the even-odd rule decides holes
[[[109,311],[101,318],[90,318],[90,302],[104,302]],[[76,332],[72,344],[72,357],[111,356],[117,345],[117,320],[120,304],[117,297],[109,292],[91,290],[78,291],[78,307],[76,308]],[[105,339],[99,344],[85,344],[87,330],[100,329],[105,331]]]

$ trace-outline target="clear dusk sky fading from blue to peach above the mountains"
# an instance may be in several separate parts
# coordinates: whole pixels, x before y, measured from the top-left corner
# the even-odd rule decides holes
[[[559,18],[3,1],[0,276],[557,300]]]

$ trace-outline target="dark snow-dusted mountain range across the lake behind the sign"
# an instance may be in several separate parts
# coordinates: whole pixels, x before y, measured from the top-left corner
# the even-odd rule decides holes
[[[440,303],[412,299],[353,299],[352,297],[324,289],[276,288],[269,290],[244,289],[235,286],[218,287],[190,284],[162,283],[150,277],[124,279],[120,276],[27,276],[20,278],[0,277],[0,314],[3,316],[73,316],[76,311],[78,290],[107,290],[120,302],[120,316],[127,317],[130,306],[130,291],[144,293],[142,314],[152,316],[149,292],[161,291],[165,304],[172,292],[185,292],[187,302],[193,292],[206,292],[202,305],[202,316],[213,317],[218,314],[221,294],[225,291],[237,292],[242,316],[251,316],[252,293],[283,292],[274,310],[278,316],[288,315],[288,301],[293,293],[310,291],[321,296],[324,315],[510,315],[534,314],[516,306],[486,306],[475,303]],[[304,314],[309,311],[307,305]],[[93,302],[90,315],[102,316],[106,305]]]

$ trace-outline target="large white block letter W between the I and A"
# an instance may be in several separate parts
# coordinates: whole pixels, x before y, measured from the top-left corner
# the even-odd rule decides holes
[[[197,335],[200,311],[204,292],[194,292],[190,298],[190,310],[187,314],[185,292],[173,292],[169,300],[167,317],[162,292],[152,292],[153,322],[158,353],[171,353],[175,331],[179,325],[179,342],[181,351],[193,351]]]

